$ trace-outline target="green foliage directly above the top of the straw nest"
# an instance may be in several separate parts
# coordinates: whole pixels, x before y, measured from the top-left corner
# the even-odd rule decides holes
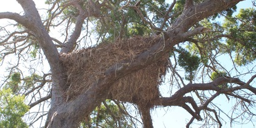
[[[150,35],[151,29],[141,21],[140,16],[131,7],[125,7],[120,10],[123,6],[123,1],[109,1],[113,9],[108,11],[108,9],[101,9],[101,14],[104,17],[96,21],[95,32],[99,35],[105,35],[103,37],[103,42],[113,42],[117,38],[130,38],[133,35]],[[136,1],[131,1],[131,5],[135,5]],[[151,4],[149,6],[149,4]],[[153,1],[141,1],[140,6],[145,8],[140,8],[144,16],[146,16],[146,11],[150,11],[149,7],[155,5]],[[93,19],[92,19],[93,20]]]

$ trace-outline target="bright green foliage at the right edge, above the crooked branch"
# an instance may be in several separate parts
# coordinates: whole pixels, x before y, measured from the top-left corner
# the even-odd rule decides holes
[[[256,11],[241,9],[235,18],[225,19],[223,27],[232,39],[227,40],[227,46],[235,52],[235,63],[247,65],[256,59]]]

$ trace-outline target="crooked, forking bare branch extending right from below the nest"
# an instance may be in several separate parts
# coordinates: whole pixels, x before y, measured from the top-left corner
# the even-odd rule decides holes
[[[224,83],[236,83],[240,86],[237,86],[235,88],[223,89],[223,90],[218,88],[218,85],[222,85]],[[211,103],[213,101],[213,99],[215,99],[217,96],[219,96],[220,93],[227,93],[230,96],[234,96],[235,98],[243,99],[244,101],[247,101],[248,103],[250,103],[250,100],[248,100],[246,98],[242,98],[241,96],[236,96],[236,95],[229,93],[230,91],[232,92],[237,89],[242,89],[243,88],[242,86],[244,86],[244,85],[245,85],[245,83],[240,81],[238,78],[227,78],[225,76],[217,78],[216,80],[212,81],[211,83],[202,83],[202,84],[191,84],[190,83],[190,84],[184,86],[183,88],[179,89],[170,98],[159,98],[159,99],[155,100],[154,105],[155,106],[181,106],[184,109],[186,109],[190,114],[192,114],[192,116],[195,117],[195,119],[200,120],[201,117],[199,115],[199,112],[202,109],[207,109],[208,104]],[[189,93],[189,92],[195,91],[195,90],[214,90],[214,91],[217,91],[217,93],[213,94],[213,96],[210,99],[208,99],[207,101],[205,101],[205,103],[203,103],[202,106],[198,107],[197,103],[195,103],[195,101],[192,97],[183,97],[183,96],[185,96],[186,93]],[[185,104],[185,103],[190,103],[192,105],[193,109],[195,110],[195,112],[193,112],[192,109],[189,106],[187,106],[187,104]]]

